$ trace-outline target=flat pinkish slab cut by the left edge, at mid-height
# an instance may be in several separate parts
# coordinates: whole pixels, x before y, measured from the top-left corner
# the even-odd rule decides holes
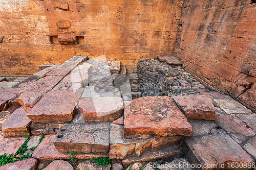
[[[5,104],[19,95],[21,88],[0,88],[0,111],[3,110]]]

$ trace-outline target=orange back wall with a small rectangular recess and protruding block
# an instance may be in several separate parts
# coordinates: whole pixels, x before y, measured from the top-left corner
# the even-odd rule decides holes
[[[128,70],[174,51],[181,1],[29,0],[0,6],[0,76],[26,76],[40,64],[106,55]]]

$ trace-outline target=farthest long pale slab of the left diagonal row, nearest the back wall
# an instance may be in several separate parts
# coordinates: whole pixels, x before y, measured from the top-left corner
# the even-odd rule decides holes
[[[65,61],[63,64],[55,68],[54,70],[48,72],[47,76],[66,76],[73,68],[75,68],[75,66],[83,61],[86,61],[87,59],[88,56],[74,56],[73,58]]]

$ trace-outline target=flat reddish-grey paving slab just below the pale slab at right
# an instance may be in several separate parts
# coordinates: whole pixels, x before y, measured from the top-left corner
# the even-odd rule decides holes
[[[254,130],[234,115],[219,115],[216,117],[215,122],[239,144],[256,135]]]

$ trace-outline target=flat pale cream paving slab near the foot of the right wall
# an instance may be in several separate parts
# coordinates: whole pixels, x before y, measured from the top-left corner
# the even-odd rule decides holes
[[[219,99],[215,99],[214,101],[227,114],[251,113],[251,110],[247,109],[245,106],[243,106],[237,101],[227,101],[227,100],[219,100]]]

